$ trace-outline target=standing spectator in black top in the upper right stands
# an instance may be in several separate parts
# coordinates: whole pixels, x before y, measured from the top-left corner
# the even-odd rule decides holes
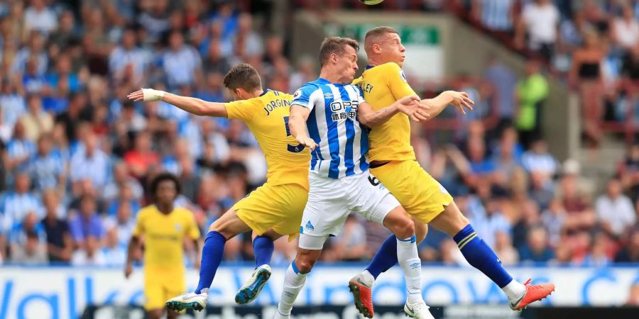
[[[584,108],[584,133],[592,145],[601,140],[599,123],[603,118],[601,62],[605,56],[599,35],[586,33],[584,46],[573,52],[569,82],[579,89]]]

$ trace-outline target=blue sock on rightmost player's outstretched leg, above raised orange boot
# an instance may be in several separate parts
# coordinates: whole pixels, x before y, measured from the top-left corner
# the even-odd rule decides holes
[[[513,281],[513,277],[501,266],[501,261],[495,252],[477,236],[473,226],[466,225],[453,239],[457,242],[466,261],[488,276],[499,288],[503,288],[510,281]]]

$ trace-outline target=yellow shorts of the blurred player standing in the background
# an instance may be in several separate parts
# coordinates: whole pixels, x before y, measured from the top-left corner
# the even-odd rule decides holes
[[[185,292],[185,269],[144,269],[146,310],[164,309],[166,301]]]

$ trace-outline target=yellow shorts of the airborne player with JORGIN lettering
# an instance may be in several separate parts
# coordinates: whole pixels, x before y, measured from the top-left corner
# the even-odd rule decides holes
[[[302,212],[308,191],[297,184],[269,185],[268,182],[238,201],[233,209],[249,227],[262,235],[270,228],[293,240],[300,234]]]

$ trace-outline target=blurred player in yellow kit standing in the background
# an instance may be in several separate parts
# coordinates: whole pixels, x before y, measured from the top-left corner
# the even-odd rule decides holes
[[[129,278],[133,268],[133,252],[144,240],[144,308],[151,319],[162,318],[164,301],[186,290],[184,266],[184,239],[195,242],[200,239],[193,213],[175,207],[173,202],[180,194],[180,182],[173,174],[162,173],[151,181],[153,204],[138,212],[136,227],[129,242],[124,275]],[[196,261],[197,265],[198,262]],[[168,318],[178,314],[168,311]]]

